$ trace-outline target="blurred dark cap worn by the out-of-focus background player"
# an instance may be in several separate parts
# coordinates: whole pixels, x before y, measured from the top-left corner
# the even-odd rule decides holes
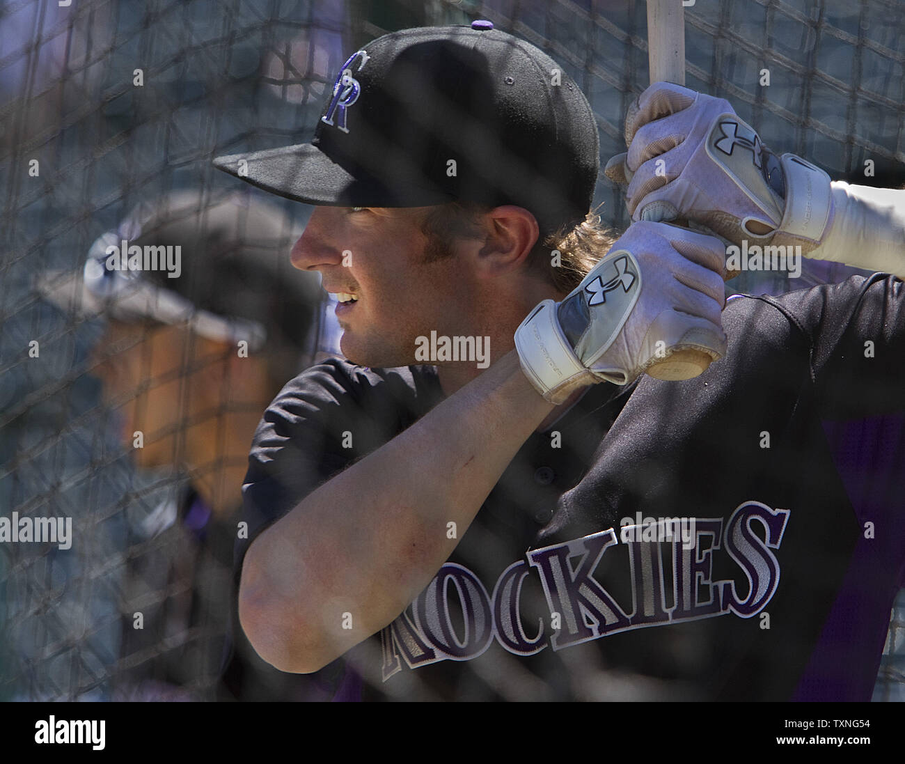
[[[53,272],[43,296],[82,317],[186,322],[220,341],[310,351],[323,291],[292,268],[300,226],[273,205],[177,191],[135,207],[91,245],[82,272]]]

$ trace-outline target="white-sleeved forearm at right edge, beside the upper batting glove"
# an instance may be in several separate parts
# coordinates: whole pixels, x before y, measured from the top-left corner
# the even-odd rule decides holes
[[[809,256],[905,279],[905,191],[837,181],[833,205],[830,229]]]

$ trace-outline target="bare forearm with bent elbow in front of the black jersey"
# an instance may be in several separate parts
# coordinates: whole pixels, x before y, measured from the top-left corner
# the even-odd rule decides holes
[[[255,649],[283,671],[308,673],[390,623],[449,559],[552,408],[513,350],[263,531],[240,589]]]

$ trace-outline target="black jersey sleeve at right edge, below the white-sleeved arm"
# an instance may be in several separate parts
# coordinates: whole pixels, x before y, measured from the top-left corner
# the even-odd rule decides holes
[[[905,411],[905,284],[888,273],[771,300],[805,335],[826,419]]]

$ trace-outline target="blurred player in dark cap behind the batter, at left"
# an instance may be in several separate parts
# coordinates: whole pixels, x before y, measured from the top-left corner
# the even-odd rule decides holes
[[[201,199],[180,191],[138,205],[91,247],[83,277],[43,282],[58,304],[106,318],[93,373],[120,440],[138,467],[178,475],[130,528],[119,700],[243,698],[243,660],[228,682],[219,675],[248,445],[317,341],[322,292],[288,267],[291,218],[237,194]],[[124,245],[132,267],[157,270],[122,270]]]

